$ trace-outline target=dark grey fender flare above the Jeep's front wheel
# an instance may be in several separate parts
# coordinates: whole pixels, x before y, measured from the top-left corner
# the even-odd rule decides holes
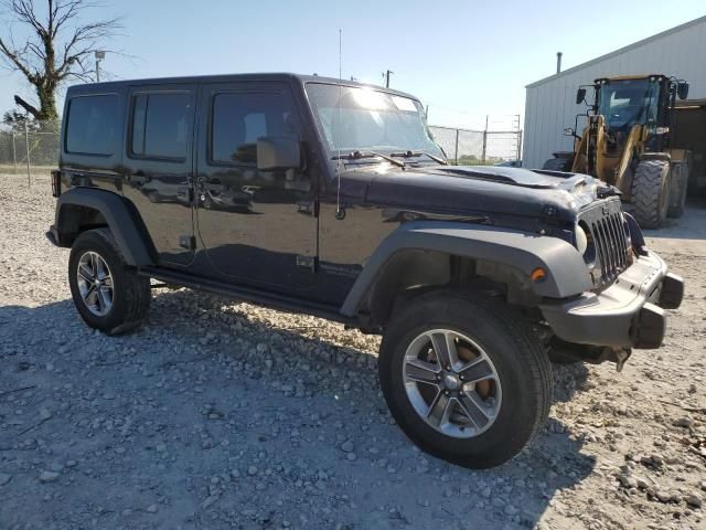
[[[527,275],[537,267],[547,272],[543,282],[531,283],[538,296],[566,298],[593,286],[584,258],[564,240],[518,230],[454,222],[417,221],[389,234],[363,267],[349,292],[341,314],[353,317],[385,263],[397,252],[436,251],[510,265]]]

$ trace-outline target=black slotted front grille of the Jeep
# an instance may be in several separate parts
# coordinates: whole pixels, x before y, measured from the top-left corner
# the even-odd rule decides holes
[[[586,259],[592,265],[596,287],[612,283],[629,266],[630,235],[622,216],[619,199],[609,199],[579,215],[579,223],[589,235]]]

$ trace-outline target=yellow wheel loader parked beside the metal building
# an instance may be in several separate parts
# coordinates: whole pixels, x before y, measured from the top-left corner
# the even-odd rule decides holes
[[[593,103],[586,102],[587,87]],[[667,216],[684,213],[691,152],[672,149],[676,98],[685,99],[688,83],[661,74],[606,77],[580,86],[576,104],[588,110],[576,117],[574,151],[555,152],[543,167],[550,171],[586,173],[614,186],[638,223],[661,226]],[[579,117],[587,125],[576,132]]]

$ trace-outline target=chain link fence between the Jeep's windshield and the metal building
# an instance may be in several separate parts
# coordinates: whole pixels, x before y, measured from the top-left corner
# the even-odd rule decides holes
[[[429,126],[436,142],[456,165],[520,165],[522,130],[470,130]]]

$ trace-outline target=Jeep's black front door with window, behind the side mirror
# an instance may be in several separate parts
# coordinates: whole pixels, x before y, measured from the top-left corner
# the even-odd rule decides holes
[[[315,187],[307,169],[260,171],[257,139],[301,139],[290,87],[213,83],[200,100],[199,236],[215,269],[234,283],[297,290],[313,283]]]

